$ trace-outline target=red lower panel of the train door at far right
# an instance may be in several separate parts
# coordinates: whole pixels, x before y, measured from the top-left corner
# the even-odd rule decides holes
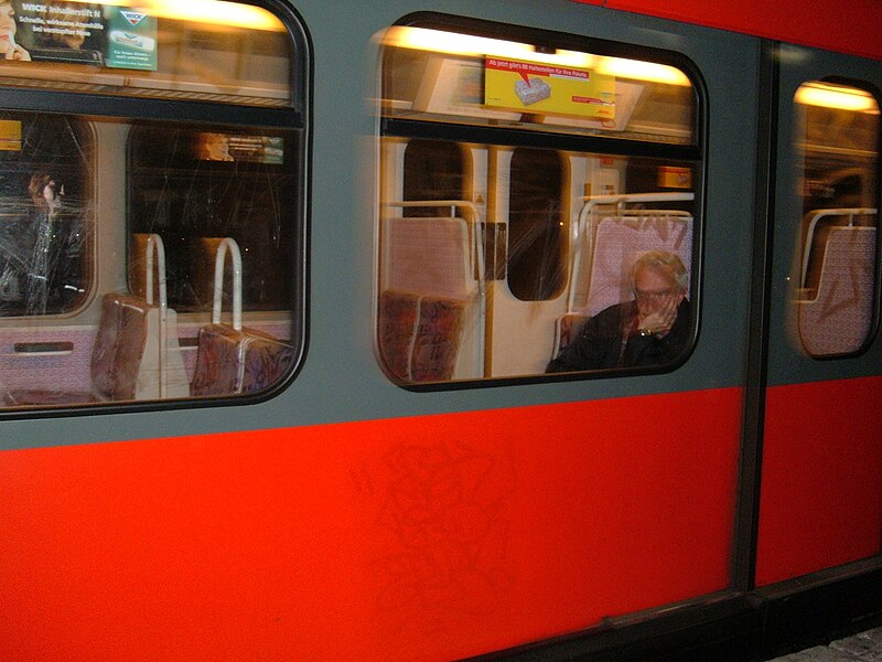
[[[880,377],[768,389],[760,586],[880,553]]]

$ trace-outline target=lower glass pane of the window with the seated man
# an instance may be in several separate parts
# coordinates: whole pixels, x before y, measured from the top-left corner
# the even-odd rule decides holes
[[[396,382],[540,375],[580,343],[616,353],[553,372],[654,367],[687,350],[688,162],[421,139],[383,154],[377,352]],[[676,291],[635,279],[647,255],[668,260],[649,271]],[[614,338],[582,338],[592,319]]]

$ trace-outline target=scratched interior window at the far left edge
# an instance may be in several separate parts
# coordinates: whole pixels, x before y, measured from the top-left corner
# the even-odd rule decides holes
[[[0,111],[0,314],[53,316],[94,286],[93,136],[76,117]]]

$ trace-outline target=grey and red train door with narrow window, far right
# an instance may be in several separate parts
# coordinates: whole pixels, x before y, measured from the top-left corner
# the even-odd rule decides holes
[[[756,584],[880,554],[882,79],[783,46]]]

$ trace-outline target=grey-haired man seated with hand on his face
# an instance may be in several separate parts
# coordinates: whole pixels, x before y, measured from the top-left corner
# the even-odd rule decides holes
[[[688,274],[666,250],[644,253],[632,269],[634,300],[602,310],[546,369],[548,373],[673,361],[689,342]]]

